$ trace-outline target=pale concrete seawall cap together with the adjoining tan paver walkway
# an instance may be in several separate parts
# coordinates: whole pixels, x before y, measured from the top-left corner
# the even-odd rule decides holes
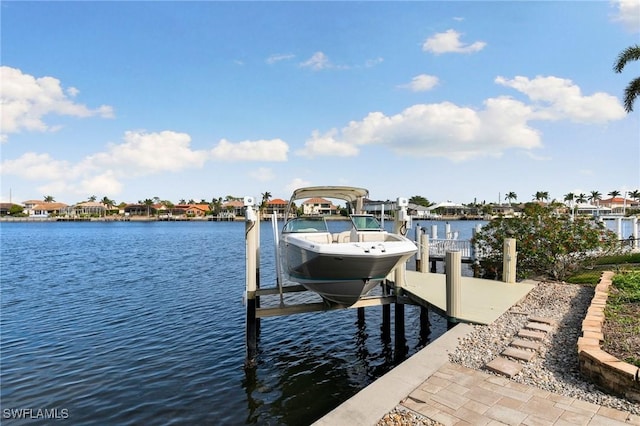
[[[314,425],[372,426],[398,405],[444,425],[640,425],[624,411],[449,362],[471,330],[452,328]]]

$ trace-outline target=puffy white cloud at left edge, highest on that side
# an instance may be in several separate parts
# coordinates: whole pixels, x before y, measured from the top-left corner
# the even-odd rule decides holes
[[[53,77],[35,78],[23,74],[21,70],[7,66],[0,67],[0,98],[2,99],[2,134],[3,141],[8,134],[26,131],[55,131],[58,126],[45,123],[44,117],[50,114],[73,117],[100,116],[113,117],[113,108],[102,105],[90,109],[85,105],[73,102],[79,91],[74,87],[63,90],[60,80]]]

